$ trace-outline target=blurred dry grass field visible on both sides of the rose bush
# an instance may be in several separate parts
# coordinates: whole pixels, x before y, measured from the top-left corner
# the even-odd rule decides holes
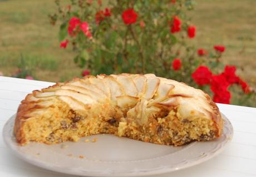
[[[70,3],[60,2],[65,6]],[[224,45],[221,62],[235,65],[237,75],[255,88],[256,1],[194,2],[194,10],[186,15],[196,26],[196,37],[188,43],[205,49],[213,49],[216,44]],[[0,72],[4,76],[13,76],[23,69],[34,79],[49,82],[81,77],[87,68],[77,67],[73,62],[76,53],[71,47],[60,47],[61,22],[52,26],[48,18],[48,14],[55,12],[57,7],[52,0],[0,0]],[[242,94],[237,92],[231,103],[256,107],[255,94]]]

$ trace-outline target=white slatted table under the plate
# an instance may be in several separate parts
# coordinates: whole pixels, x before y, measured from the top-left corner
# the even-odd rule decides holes
[[[67,176],[47,171],[12,154],[3,142],[2,128],[14,114],[21,100],[32,90],[53,83],[0,77],[0,176]],[[256,176],[256,108],[218,104],[234,127],[232,142],[223,153],[206,163],[159,176]]]

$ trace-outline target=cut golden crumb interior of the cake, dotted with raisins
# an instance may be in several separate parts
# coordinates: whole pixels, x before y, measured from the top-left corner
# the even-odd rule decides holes
[[[42,108],[43,114],[35,112],[23,122],[21,133],[26,141],[22,141],[22,145],[29,141],[46,144],[78,141],[83,136],[102,133],[175,146],[216,138],[213,120],[205,117],[183,119],[178,107],[161,108],[144,124],[127,115],[131,108],[102,103],[88,107],[85,112],[72,110],[63,102]]]

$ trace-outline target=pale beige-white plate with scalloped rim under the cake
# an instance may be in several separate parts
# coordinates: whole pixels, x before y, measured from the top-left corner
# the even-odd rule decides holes
[[[141,176],[188,168],[219,154],[233,136],[232,124],[223,115],[224,128],[220,138],[180,147],[107,134],[87,136],[76,143],[19,146],[13,135],[14,119],[15,115],[4,125],[3,138],[19,158],[41,168],[81,176]],[[85,139],[95,137],[95,143],[85,143]]]

